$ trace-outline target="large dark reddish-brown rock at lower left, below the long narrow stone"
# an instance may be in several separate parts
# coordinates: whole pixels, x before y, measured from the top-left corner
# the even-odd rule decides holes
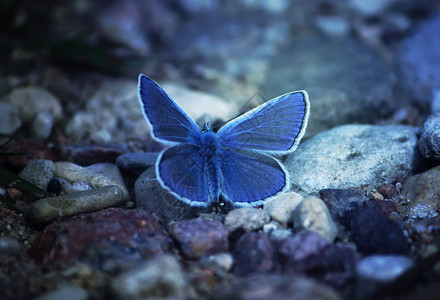
[[[130,246],[141,233],[165,234],[157,220],[144,210],[109,208],[46,226],[30,253],[37,261],[70,262],[93,241],[107,239]]]

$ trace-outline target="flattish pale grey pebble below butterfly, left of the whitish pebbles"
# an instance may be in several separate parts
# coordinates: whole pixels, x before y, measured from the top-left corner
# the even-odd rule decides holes
[[[269,215],[260,208],[241,207],[231,210],[225,218],[229,232],[243,228],[246,231],[257,230],[270,221]]]

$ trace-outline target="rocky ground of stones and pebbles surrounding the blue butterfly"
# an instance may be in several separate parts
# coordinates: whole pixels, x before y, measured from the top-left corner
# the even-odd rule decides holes
[[[435,1],[31,1],[0,10],[1,299],[438,299]],[[166,192],[147,74],[198,122],[304,89],[291,190]]]

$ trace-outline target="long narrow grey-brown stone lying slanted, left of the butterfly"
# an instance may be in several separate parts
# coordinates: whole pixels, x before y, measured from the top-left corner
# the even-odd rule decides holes
[[[33,223],[46,224],[60,218],[120,205],[125,200],[125,194],[119,186],[103,186],[93,190],[40,199],[32,203],[28,216]]]

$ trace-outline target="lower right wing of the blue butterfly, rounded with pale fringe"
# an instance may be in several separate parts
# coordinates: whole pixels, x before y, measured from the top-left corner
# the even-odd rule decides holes
[[[275,158],[255,151],[228,149],[223,152],[221,189],[236,206],[257,206],[282,192],[288,175]]]

